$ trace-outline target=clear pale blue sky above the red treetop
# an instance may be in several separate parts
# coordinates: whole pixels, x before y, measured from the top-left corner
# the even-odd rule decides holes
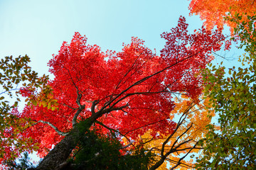
[[[198,16],[188,16],[188,0],[0,0],[0,58],[28,55],[40,74],[62,42],[75,31],[102,50],[121,50],[132,36],[159,52],[160,34],[185,16],[189,29],[201,28]]]

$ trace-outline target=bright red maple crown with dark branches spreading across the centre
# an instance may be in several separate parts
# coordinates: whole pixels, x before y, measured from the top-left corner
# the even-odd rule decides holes
[[[75,33],[48,63],[55,76],[48,81],[51,93],[21,91],[36,101],[36,106],[26,106],[20,113],[36,122],[23,135],[41,144],[38,153],[49,158],[54,151],[48,150],[70,141],[69,132],[82,120],[90,120],[90,127],[101,134],[112,129],[135,141],[149,129],[152,137],[171,134],[176,126],[169,119],[173,94],[183,91],[191,98],[201,94],[201,77],[195,74],[213,60],[210,52],[220,50],[225,40],[221,30],[201,28],[189,34],[187,28],[181,17],[176,28],[161,35],[166,45],[160,56],[139,38],[123,45],[121,52],[102,52]],[[61,163],[57,157],[54,160],[54,166]]]

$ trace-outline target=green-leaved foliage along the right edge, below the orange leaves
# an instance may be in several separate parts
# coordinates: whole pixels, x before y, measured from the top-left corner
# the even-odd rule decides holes
[[[256,169],[256,34],[251,29],[255,17],[250,19],[235,29],[248,55],[242,60],[247,62],[247,67],[229,69],[228,77],[223,75],[224,67],[204,72],[208,81],[206,94],[219,115],[220,130],[208,126],[198,169]]]

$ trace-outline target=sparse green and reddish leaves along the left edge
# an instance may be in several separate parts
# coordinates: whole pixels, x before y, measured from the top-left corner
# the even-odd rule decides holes
[[[17,118],[17,111],[14,109],[21,101],[20,89],[31,91],[41,88],[46,84],[48,77],[38,77],[38,73],[28,67],[30,58],[23,57],[4,57],[0,60],[0,162],[2,160],[13,160],[18,157],[18,153],[24,152],[30,145],[31,139],[23,139],[18,136],[23,130],[31,125],[28,118]],[[34,98],[29,98],[28,103],[33,102]],[[29,123],[30,122],[30,123]],[[15,149],[11,149],[15,148]]]

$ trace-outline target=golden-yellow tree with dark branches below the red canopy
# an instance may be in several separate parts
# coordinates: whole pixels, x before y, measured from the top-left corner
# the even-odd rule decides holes
[[[175,116],[174,116],[175,115]],[[176,99],[176,108],[170,119],[176,120],[176,129],[169,136],[159,134],[159,139],[147,132],[141,137],[142,144],[156,154],[155,162],[149,169],[193,169],[193,153],[198,153],[198,141],[205,137],[206,125],[214,116],[208,98],[197,101],[182,95]],[[199,154],[198,154],[199,155]]]

